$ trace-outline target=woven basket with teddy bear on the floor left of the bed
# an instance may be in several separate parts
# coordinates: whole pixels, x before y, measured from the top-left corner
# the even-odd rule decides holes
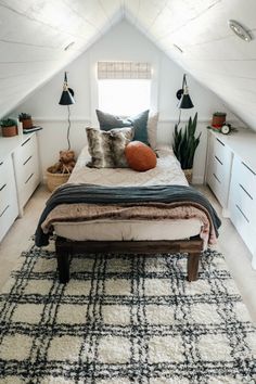
[[[49,191],[52,192],[68,180],[75,164],[74,151],[60,151],[59,162],[47,169],[47,187]]]

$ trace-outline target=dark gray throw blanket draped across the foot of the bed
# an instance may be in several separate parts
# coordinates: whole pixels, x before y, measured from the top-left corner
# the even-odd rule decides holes
[[[218,215],[208,200],[192,187],[151,185],[151,187],[103,187],[94,184],[64,184],[48,200],[36,230],[36,245],[49,244],[49,233],[43,233],[41,223],[59,204],[124,204],[124,203],[180,203],[192,202],[202,205],[209,214],[218,236],[221,225]]]

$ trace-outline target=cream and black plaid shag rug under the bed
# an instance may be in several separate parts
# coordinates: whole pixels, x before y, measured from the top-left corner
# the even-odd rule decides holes
[[[1,294],[0,383],[255,383],[256,333],[223,257],[76,255],[57,282],[33,247]]]

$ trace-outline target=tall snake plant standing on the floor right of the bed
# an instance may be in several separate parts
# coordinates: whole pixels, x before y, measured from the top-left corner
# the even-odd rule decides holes
[[[175,126],[174,132],[174,143],[172,150],[180,162],[181,168],[187,177],[189,183],[192,182],[193,176],[193,162],[195,150],[200,143],[201,133],[195,137],[195,129],[197,125],[197,112],[192,120],[189,118],[189,123],[185,126],[184,130],[182,128],[178,129],[178,124]]]

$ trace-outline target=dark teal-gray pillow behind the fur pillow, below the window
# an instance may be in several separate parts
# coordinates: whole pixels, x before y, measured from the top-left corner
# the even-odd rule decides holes
[[[140,113],[137,116],[127,117],[126,119],[121,119],[118,116],[111,115],[108,113],[99,110],[95,110],[95,112],[100,124],[100,128],[102,130],[108,131],[112,128],[133,126],[135,127],[133,140],[138,140],[145,144],[149,144],[149,139],[148,139],[148,118],[150,113],[149,110]]]

